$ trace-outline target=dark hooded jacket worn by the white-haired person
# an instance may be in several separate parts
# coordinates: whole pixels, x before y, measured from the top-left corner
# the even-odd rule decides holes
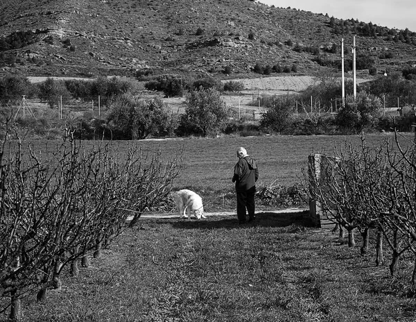
[[[246,191],[255,187],[258,178],[259,169],[256,160],[250,158],[249,155],[241,158],[235,165],[232,182],[236,183],[236,191]]]

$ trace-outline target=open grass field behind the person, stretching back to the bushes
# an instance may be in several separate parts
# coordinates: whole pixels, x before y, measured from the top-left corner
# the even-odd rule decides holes
[[[413,141],[413,134],[406,137]],[[379,146],[383,139],[394,139],[390,134],[367,135],[367,144]],[[407,144],[404,139],[401,139]],[[307,169],[308,156],[313,153],[333,155],[333,149],[341,149],[345,142],[359,144],[357,135],[352,136],[259,136],[259,137],[220,137],[149,139],[136,142],[114,142],[114,149],[122,154],[128,146],[137,144],[144,153],[152,154],[160,149],[162,158],[182,155],[184,169],[174,182],[173,189],[191,189],[205,203],[205,211],[234,210],[236,208],[234,184],[231,181],[234,164],[237,162],[236,149],[244,146],[248,154],[259,164],[257,190],[263,187],[291,187],[301,183],[302,169]],[[35,151],[45,151],[45,144],[53,146],[59,142],[33,141]],[[85,146],[98,144],[85,141]],[[172,205],[173,206],[173,205]],[[270,210],[267,205],[258,203],[258,209]],[[304,206],[304,205],[294,205]],[[171,209],[174,211],[174,208]]]

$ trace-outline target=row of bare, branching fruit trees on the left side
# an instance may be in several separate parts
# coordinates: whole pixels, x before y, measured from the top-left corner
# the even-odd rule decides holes
[[[87,149],[69,130],[42,153],[8,137],[0,151],[0,311],[19,320],[21,298],[43,300],[60,287],[64,267],[76,276],[80,258],[119,235],[132,211],[137,221],[164,198],[182,159],[164,163],[160,151],[148,159],[137,146],[122,153],[111,142]]]

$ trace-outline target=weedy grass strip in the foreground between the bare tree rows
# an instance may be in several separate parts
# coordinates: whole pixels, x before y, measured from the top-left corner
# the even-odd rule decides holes
[[[257,218],[139,219],[26,321],[413,321],[406,259],[392,278],[302,213]]]

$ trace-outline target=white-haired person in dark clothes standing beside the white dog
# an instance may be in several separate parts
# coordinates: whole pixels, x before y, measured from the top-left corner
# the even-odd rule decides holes
[[[239,223],[245,223],[245,210],[248,212],[248,221],[254,222],[254,194],[256,193],[256,182],[259,178],[259,169],[256,160],[247,154],[247,151],[241,147],[237,150],[239,162],[234,167],[234,176],[232,182],[236,183],[237,195],[237,218]]]

